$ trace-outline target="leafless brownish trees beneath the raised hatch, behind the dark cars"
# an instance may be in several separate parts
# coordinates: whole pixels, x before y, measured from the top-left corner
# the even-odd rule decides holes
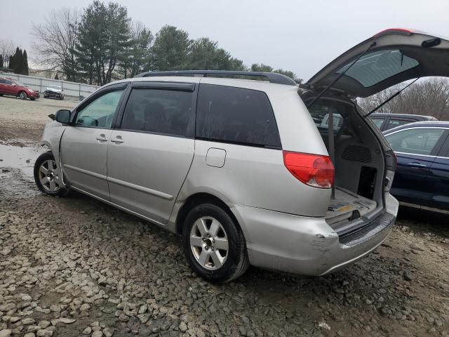
[[[394,95],[406,84],[398,84],[361,100],[363,110],[370,111]],[[424,114],[439,120],[449,120],[449,80],[443,77],[420,79],[377,112],[394,114]]]

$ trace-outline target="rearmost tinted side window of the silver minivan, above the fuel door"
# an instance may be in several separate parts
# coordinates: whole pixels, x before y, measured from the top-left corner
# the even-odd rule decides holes
[[[196,137],[281,147],[272,106],[262,91],[201,84]]]

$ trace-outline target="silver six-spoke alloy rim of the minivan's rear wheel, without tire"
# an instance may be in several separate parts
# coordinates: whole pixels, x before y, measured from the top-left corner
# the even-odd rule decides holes
[[[190,231],[190,248],[201,267],[219,269],[225,264],[229,251],[225,228],[215,218],[199,218]]]

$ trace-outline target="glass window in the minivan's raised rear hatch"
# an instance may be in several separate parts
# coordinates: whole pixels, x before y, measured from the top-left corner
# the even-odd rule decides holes
[[[337,71],[337,74],[344,72],[351,64],[352,62],[342,67]],[[368,88],[384,79],[417,67],[417,65],[420,65],[417,60],[409,58],[397,49],[375,51],[374,53],[363,55],[360,60],[349,68],[345,75],[352,77],[360,82],[362,86]]]

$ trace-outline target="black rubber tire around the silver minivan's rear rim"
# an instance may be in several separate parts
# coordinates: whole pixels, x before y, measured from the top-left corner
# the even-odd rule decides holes
[[[228,250],[225,262],[221,267],[215,270],[210,270],[199,263],[194,255],[194,249],[190,244],[192,227],[194,227],[196,220],[201,218],[216,219],[222,226],[222,230],[227,237]],[[189,261],[192,270],[210,282],[230,282],[243,275],[248,269],[248,253],[246,252],[245,238],[243,237],[241,228],[234,222],[232,217],[229,216],[227,211],[216,204],[201,204],[195,206],[187,214],[182,228],[182,243],[184,246],[185,257]],[[213,247],[208,248],[206,246],[206,249],[212,249],[213,251]],[[220,249],[217,249],[217,251],[219,250]]]

